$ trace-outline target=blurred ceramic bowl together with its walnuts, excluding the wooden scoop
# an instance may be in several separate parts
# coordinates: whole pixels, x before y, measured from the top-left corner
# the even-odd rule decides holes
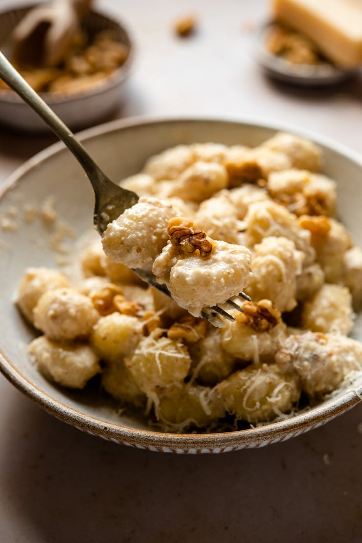
[[[72,130],[99,124],[122,104],[134,47],[118,21],[89,10],[65,54],[52,66],[12,59],[12,33],[34,6],[0,14],[0,48],[33,89]],[[0,80],[0,122],[29,131],[48,130]]]

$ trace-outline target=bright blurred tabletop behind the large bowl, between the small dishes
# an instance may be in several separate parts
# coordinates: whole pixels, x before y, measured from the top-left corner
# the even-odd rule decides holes
[[[2,0],[0,7],[7,11],[27,4],[33,3]],[[351,123],[362,122],[359,73],[345,83],[314,88],[270,79],[258,65],[257,31],[271,18],[270,2],[94,0],[93,9],[122,22],[134,49],[123,104],[103,120],[135,115],[249,117],[316,130],[361,150],[360,138],[351,130]],[[180,37],[175,26],[188,16],[194,18],[195,30]],[[18,137],[16,153],[23,159],[55,141]],[[14,153],[13,142],[9,130],[0,131],[7,161]],[[16,165],[15,158],[5,175]]]

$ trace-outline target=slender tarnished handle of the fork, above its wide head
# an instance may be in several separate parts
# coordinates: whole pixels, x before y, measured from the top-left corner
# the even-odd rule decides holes
[[[88,155],[80,141],[69,130],[66,124],[55,115],[54,111],[44,102],[27,83],[27,81],[15,70],[8,59],[0,51],[0,77],[13,89],[36,113],[45,121],[55,134],[66,144],[69,150],[72,151],[75,158],[80,162],[81,166],[90,179],[94,190],[99,188],[99,181],[102,183],[106,180],[106,175],[97,166],[96,162]]]

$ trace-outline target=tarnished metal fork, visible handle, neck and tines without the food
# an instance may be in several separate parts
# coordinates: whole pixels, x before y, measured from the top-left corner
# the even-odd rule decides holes
[[[116,183],[113,183],[113,181],[107,178],[71,130],[69,130],[61,119],[55,115],[54,111],[49,108],[39,94],[31,89],[30,85],[23,79],[20,73],[15,70],[1,52],[0,77],[24,100],[24,102],[34,109],[37,115],[49,125],[79,161],[87,174],[88,179],[91,181],[94,191],[93,223],[100,235],[103,234],[109,223],[119,217],[126,209],[129,209],[129,207],[132,207],[132,205],[137,203],[138,195],[135,192],[116,185]],[[135,271],[143,281],[172,298],[166,285],[157,283],[156,278],[151,271],[138,268],[133,271]],[[251,300],[244,292],[241,292],[238,296],[249,301]],[[233,296],[233,298],[236,297],[237,296]],[[234,310],[244,312],[243,308],[232,299],[226,300],[223,305],[228,305]],[[219,305],[204,307],[201,316],[217,327],[223,327],[225,325],[224,319],[230,321],[236,320],[233,315]]]

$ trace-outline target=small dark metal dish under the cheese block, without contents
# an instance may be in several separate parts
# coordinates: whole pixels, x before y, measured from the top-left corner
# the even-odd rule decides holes
[[[256,59],[271,78],[303,87],[324,87],[342,83],[357,74],[357,70],[343,70],[331,62],[316,65],[294,64],[273,55],[266,48],[266,37],[274,25],[274,21],[264,23],[256,35]]]

